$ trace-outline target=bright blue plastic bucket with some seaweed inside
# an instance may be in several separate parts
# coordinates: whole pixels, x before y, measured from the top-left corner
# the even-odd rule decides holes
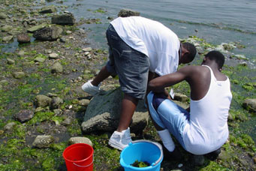
[[[131,166],[135,160],[148,162],[150,166],[136,167]],[[132,170],[147,170],[159,171],[161,161],[163,160],[163,150],[158,142],[148,140],[137,140],[129,143],[124,148],[120,156],[120,164],[124,167],[125,171]]]

